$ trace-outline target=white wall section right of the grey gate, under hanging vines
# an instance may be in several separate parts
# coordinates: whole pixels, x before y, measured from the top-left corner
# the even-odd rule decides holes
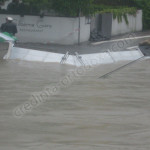
[[[117,19],[113,19],[112,21],[112,36],[141,31],[143,28],[142,24],[142,10],[138,10],[136,16],[128,15],[129,24],[127,25],[125,20],[123,19],[121,23],[118,23]]]

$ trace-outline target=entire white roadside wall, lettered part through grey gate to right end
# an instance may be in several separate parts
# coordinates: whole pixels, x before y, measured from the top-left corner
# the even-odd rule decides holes
[[[0,22],[5,22],[7,15],[0,15]],[[18,27],[16,35],[19,42],[31,43],[53,43],[73,45],[78,43],[79,19],[67,17],[47,17],[10,15],[14,18]],[[96,15],[91,25],[85,17],[80,20],[80,42],[88,41],[90,32],[97,30],[102,37],[120,35],[129,32],[142,30],[142,11],[139,10],[136,16],[128,15],[129,24],[123,19],[118,23],[117,19],[110,19],[111,15]],[[107,18],[107,19],[106,19]],[[109,18],[109,19],[108,19]],[[106,24],[106,25],[105,25]],[[99,36],[98,36],[99,37]],[[101,37],[101,36],[100,36]]]

